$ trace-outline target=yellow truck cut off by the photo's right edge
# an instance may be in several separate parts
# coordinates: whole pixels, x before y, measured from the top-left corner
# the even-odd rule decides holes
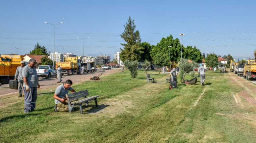
[[[254,51],[254,60],[249,59],[245,61],[245,67],[244,67],[244,78],[247,80],[253,80],[256,79],[256,50]]]

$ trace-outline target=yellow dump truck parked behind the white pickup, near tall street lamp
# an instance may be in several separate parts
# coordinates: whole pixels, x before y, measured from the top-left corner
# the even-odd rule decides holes
[[[75,75],[78,73],[79,67],[81,67],[81,60],[77,57],[64,57],[64,62],[56,62],[55,67],[59,65],[61,67],[61,74]]]

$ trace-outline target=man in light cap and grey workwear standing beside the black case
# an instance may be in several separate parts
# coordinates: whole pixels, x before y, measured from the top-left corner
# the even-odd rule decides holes
[[[23,87],[23,76],[22,76],[22,69],[25,65],[25,62],[22,60],[21,61],[21,66],[17,67],[16,73],[15,73],[15,79],[14,80],[18,80],[19,83],[19,96],[18,97],[22,97],[22,87]]]

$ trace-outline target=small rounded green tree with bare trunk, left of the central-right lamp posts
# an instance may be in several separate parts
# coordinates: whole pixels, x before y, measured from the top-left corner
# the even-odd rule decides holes
[[[164,52],[159,52],[152,57],[153,62],[155,65],[160,66],[160,67],[167,66],[170,64],[168,56],[169,56],[169,53],[167,55]],[[159,74],[160,74],[160,70],[159,70]]]

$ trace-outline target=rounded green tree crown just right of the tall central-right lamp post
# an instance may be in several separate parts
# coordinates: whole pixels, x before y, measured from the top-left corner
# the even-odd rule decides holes
[[[185,48],[183,55],[184,55],[184,58],[193,60],[197,63],[202,62],[202,59],[203,59],[202,53],[200,52],[199,49],[196,48],[196,46],[194,46],[194,48],[192,46],[187,46]]]

